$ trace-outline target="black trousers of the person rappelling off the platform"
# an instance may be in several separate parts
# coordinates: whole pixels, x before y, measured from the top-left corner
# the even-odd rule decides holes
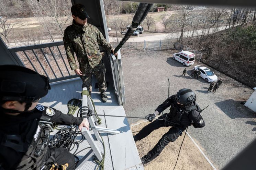
[[[161,117],[159,117],[159,118],[161,118]],[[135,135],[135,137],[136,137],[136,139],[138,139],[138,141],[140,141],[141,139],[143,139],[144,137],[149,135],[154,130],[159,129],[160,127],[164,127],[164,126],[168,126],[164,120],[155,120],[152,123],[149,123],[148,125],[143,127],[142,130]],[[165,148],[165,146],[168,145],[168,143],[170,143],[170,142],[176,141],[176,139],[180,136],[180,134],[185,129],[186,129],[186,127],[182,127],[182,126],[171,127],[169,129],[169,131],[167,133],[165,133],[162,136],[162,138],[158,141],[156,146],[153,149],[151,149],[151,151],[149,151],[147,153],[147,155],[142,157],[142,159],[145,161],[145,163],[150,162],[153,159],[155,159],[162,152],[162,150]]]

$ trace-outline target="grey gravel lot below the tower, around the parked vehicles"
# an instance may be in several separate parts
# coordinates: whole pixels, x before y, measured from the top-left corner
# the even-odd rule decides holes
[[[189,127],[188,132],[214,166],[220,169],[256,136],[255,112],[240,104],[253,90],[210,68],[222,78],[223,84],[215,94],[208,93],[209,83],[202,78],[181,77],[185,66],[170,58],[174,52],[122,51],[126,115],[143,117],[153,113],[168,96],[167,78],[170,80],[170,95],[181,88],[192,89],[201,108],[210,106],[201,113],[206,126],[201,129]],[[204,64],[196,62],[194,65]],[[193,66],[186,66],[188,73]],[[140,120],[129,119],[129,123],[137,121]]]

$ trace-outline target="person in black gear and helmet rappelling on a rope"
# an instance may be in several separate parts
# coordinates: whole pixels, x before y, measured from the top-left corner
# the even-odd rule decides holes
[[[156,114],[160,114],[168,107],[170,107],[170,112],[159,117],[159,119],[164,120],[155,120],[152,122],[156,117]],[[200,115],[200,108],[196,104],[196,94],[188,88],[183,88],[179,90],[176,95],[172,95],[167,98],[163,104],[156,108],[155,113],[148,114],[145,118],[152,123],[143,127],[140,132],[133,136],[135,142],[145,138],[154,130],[159,129],[159,127],[172,127],[162,136],[155,147],[149,151],[147,155],[141,158],[143,164],[155,159],[164,147],[169,142],[174,142],[179,136],[181,136],[182,132],[188,126],[193,125],[195,128],[205,126],[203,118]]]

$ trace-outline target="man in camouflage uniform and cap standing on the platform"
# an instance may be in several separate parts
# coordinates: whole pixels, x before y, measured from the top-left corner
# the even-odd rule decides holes
[[[108,100],[105,94],[107,90],[105,80],[106,69],[101,60],[102,54],[99,45],[112,53],[114,53],[114,48],[95,26],[87,23],[89,15],[84,5],[73,5],[71,13],[74,20],[72,25],[65,29],[63,37],[70,68],[80,75],[83,82],[82,87],[87,87],[90,94],[92,91],[91,79],[93,74],[98,81],[101,100],[106,102]],[[76,53],[79,67],[76,64],[74,52]],[[117,53],[114,55],[116,56]]]

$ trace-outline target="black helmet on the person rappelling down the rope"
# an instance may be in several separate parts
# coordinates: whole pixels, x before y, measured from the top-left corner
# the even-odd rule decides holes
[[[182,105],[189,106],[196,101],[196,94],[189,88],[182,88],[177,92],[176,100]]]

